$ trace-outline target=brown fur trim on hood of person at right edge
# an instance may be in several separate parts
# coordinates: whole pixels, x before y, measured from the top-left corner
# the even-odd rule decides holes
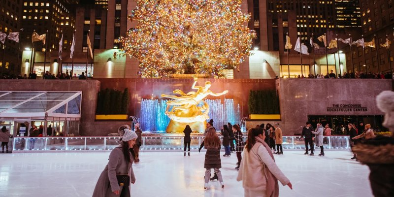
[[[378,135],[352,150],[363,164],[394,164],[394,137]]]

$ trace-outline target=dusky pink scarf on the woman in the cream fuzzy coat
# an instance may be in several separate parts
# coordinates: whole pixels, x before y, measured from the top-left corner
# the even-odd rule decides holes
[[[264,140],[260,137],[255,137],[255,139],[256,139],[256,143],[261,143],[265,147],[265,149],[267,149],[268,154],[271,156],[271,158],[275,162],[274,155],[272,154],[272,150],[271,150],[271,148],[269,148],[268,144],[266,144],[264,142]],[[255,146],[256,146],[256,144],[255,144]],[[257,145],[256,147],[260,147],[260,145]],[[269,171],[267,166],[264,166],[264,173],[266,174],[266,177],[267,177],[267,186],[265,189],[266,196],[267,197],[279,197],[278,179]]]

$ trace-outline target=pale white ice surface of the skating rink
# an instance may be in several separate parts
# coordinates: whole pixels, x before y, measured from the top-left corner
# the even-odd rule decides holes
[[[304,156],[284,150],[276,163],[293,184],[282,185],[280,197],[371,197],[369,169],[350,151],[326,151],[326,157]],[[224,154],[224,152],[223,152]],[[222,155],[223,155],[222,154]],[[317,153],[319,154],[319,153]],[[91,197],[109,153],[0,154],[1,197]],[[210,182],[203,190],[205,152],[142,152],[133,164],[136,182],[132,197],[242,197],[242,183],[235,180],[236,156],[222,157],[225,189]]]

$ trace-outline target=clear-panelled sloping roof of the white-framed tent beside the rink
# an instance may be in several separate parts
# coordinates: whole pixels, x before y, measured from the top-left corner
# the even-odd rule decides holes
[[[0,91],[0,119],[35,117],[80,118],[82,91]]]

